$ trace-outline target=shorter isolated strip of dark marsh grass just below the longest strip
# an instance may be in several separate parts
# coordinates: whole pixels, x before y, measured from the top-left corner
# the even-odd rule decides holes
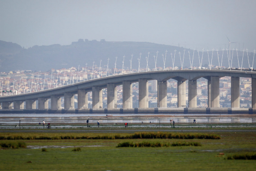
[[[117,147],[175,147],[175,146],[202,146],[198,142],[184,142],[184,143],[161,143],[161,142],[123,142],[119,143]]]

